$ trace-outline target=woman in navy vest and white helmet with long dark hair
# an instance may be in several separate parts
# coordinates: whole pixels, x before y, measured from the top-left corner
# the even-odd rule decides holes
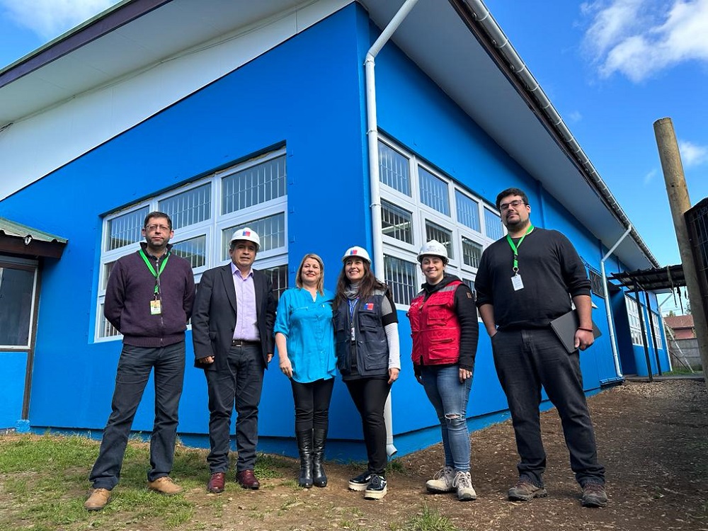
[[[350,247],[342,262],[333,304],[337,368],[361,415],[368,456],[367,471],[350,479],[349,489],[379,500],[387,491],[384,404],[401,370],[398,316],[366,249]]]

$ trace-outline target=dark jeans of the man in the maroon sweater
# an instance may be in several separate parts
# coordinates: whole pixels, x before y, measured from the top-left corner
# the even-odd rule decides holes
[[[175,452],[178,406],[184,382],[184,341],[161,348],[123,345],[115,374],[111,413],[89,481],[94,489],[113,489],[150,372],[155,371],[155,422],[150,437],[148,481],[169,476]]]

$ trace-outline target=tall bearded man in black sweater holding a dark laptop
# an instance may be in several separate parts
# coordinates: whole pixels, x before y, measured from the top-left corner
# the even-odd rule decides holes
[[[509,490],[509,499],[529,501],[547,495],[539,424],[543,386],[561,417],[571,469],[583,489],[583,506],[603,507],[605,468],[598,463],[578,350],[567,353],[549,326],[571,310],[572,298],[580,321],[576,348],[585,350],[595,341],[585,266],[566,236],[533,227],[523,190],[503,190],[496,206],[508,235],[482,253],[474,287],[521,459],[519,479]]]

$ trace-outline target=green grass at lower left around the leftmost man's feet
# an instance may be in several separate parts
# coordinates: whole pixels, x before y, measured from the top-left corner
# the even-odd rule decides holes
[[[151,527],[174,529],[193,519],[195,504],[183,495],[158,496],[146,488],[149,445],[132,438],[125,451],[120,486],[104,510],[89,513],[84,500],[99,443],[79,436],[23,435],[0,438],[0,530],[83,531]],[[285,459],[259,455],[256,474],[281,478]],[[178,446],[173,477],[185,490],[209,476],[204,452]],[[212,514],[224,513],[224,499],[207,497]],[[203,504],[203,502],[201,502]],[[202,523],[190,524],[205,529]]]

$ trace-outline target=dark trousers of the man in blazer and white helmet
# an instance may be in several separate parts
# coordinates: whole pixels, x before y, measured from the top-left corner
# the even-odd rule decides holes
[[[231,447],[231,416],[236,405],[236,472],[253,470],[258,444],[258,404],[263,390],[261,346],[231,347],[227,370],[207,368],[209,390],[209,471],[227,472]]]

